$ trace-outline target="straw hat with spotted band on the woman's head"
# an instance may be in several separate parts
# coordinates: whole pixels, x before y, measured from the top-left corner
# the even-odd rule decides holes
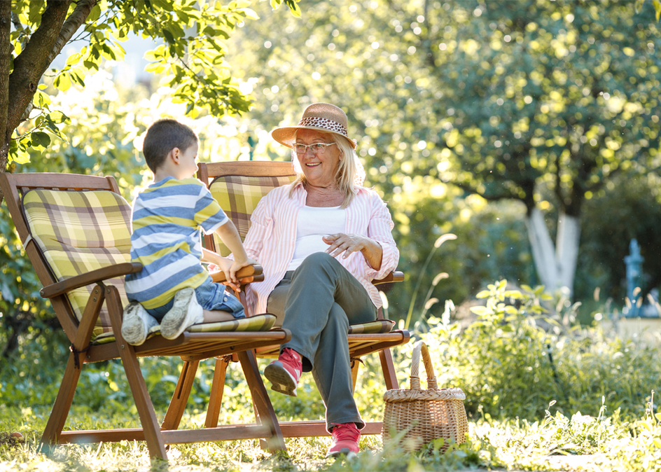
[[[313,103],[303,111],[297,126],[275,128],[271,132],[271,136],[280,144],[291,148],[296,141],[296,130],[319,130],[340,134],[340,136],[347,138],[349,145],[355,149],[356,141],[349,138],[347,134],[347,123],[346,113],[338,106],[330,103]]]

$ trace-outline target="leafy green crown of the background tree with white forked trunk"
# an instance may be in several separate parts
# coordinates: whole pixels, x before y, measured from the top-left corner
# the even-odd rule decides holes
[[[657,27],[618,2],[490,7],[464,15],[435,56],[450,77],[457,134],[445,144],[462,148],[466,172],[457,181],[529,207],[531,190],[545,182],[578,215],[611,173],[646,167],[656,154]]]

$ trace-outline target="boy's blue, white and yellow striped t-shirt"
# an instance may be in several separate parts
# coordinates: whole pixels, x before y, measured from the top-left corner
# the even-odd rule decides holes
[[[146,309],[165,305],[186,287],[197,289],[209,273],[200,263],[205,234],[229,221],[197,179],[167,177],[133,202],[131,261],[143,269],[126,276],[126,294]]]

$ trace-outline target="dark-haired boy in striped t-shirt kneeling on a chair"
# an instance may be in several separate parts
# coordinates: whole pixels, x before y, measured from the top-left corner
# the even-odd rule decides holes
[[[163,338],[174,339],[204,321],[202,310],[223,310],[213,321],[244,318],[239,300],[211,281],[201,261],[218,265],[230,282],[253,263],[237,229],[211,197],[197,171],[197,135],[176,120],[158,120],[147,130],[143,153],[154,183],[133,203],[131,260],[143,265],[126,276],[131,302],[124,310],[122,336],[141,345],[160,323]],[[201,232],[216,232],[235,260],[202,248]]]

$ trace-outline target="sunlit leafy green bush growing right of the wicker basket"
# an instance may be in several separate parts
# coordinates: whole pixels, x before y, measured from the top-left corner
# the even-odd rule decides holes
[[[461,387],[469,415],[533,419],[551,402],[564,414],[597,415],[594,398],[604,396],[608,410],[636,417],[644,392],[658,389],[655,349],[546,314],[543,287],[512,290],[503,280],[478,298],[486,305],[472,308],[478,319],[465,331],[431,317],[421,335],[440,359],[439,385]]]

